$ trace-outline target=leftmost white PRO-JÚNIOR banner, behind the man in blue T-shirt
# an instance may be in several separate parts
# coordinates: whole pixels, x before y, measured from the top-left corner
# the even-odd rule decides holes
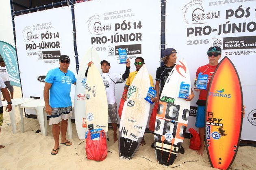
[[[50,69],[59,67],[60,55],[69,56],[69,70],[76,75],[71,7],[20,15],[14,21],[23,96],[43,98],[44,79]],[[73,100],[74,89],[72,85]]]

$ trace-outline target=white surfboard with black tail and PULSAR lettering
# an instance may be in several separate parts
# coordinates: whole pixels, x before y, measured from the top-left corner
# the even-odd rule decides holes
[[[118,140],[120,159],[132,159],[141,144],[150,111],[150,103],[144,99],[149,87],[150,78],[144,64],[132,81],[124,102]]]

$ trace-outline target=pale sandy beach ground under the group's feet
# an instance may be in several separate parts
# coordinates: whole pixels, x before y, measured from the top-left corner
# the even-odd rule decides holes
[[[14,98],[21,98],[21,89],[14,87]],[[178,154],[175,162],[171,166],[163,166],[156,162],[154,149],[150,147],[154,141],[154,134],[146,133],[146,145],[139,147],[137,153],[131,160],[120,160],[118,155],[118,142],[113,143],[113,130],[109,128],[107,141],[108,155],[104,161],[92,161],[86,158],[85,141],[79,140],[76,133],[75,123],[72,123],[73,142],[72,146],[60,144],[59,153],[51,155],[50,152],[54,146],[51,126],[48,123],[47,134],[43,136],[41,132],[35,133],[39,127],[37,119],[24,117],[24,133],[21,133],[20,115],[16,107],[16,128],[17,133],[13,134],[10,123],[9,113],[4,111],[4,123],[1,127],[0,144],[5,148],[0,149],[0,169],[2,170],[28,170],[28,169],[94,169],[94,170],[112,170],[112,169],[170,169],[177,170],[210,170],[206,150],[204,156],[189,149],[189,139],[185,139],[182,146],[185,149],[184,154]],[[67,135],[68,139],[68,135]],[[231,169],[253,170],[256,167],[254,156],[255,147],[239,147],[236,158]]]

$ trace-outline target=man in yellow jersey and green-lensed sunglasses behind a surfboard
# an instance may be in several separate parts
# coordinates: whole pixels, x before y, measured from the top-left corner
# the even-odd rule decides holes
[[[122,96],[122,98],[124,100],[127,100],[128,88],[132,84],[133,79],[135,78],[137,72],[143,66],[143,64],[145,64],[145,62],[144,62],[144,59],[142,57],[137,57],[135,59],[134,65],[136,66],[136,71],[130,72],[129,77],[126,79],[126,83],[125,83],[125,86],[124,86],[124,92],[123,92],[123,96]],[[150,77],[150,85],[151,85],[151,87],[154,87],[154,82],[153,82],[152,76],[150,74],[149,74],[149,77]],[[145,142],[144,136],[143,136],[143,139],[141,141],[141,146],[145,145],[145,144],[146,144],[146,142]]]

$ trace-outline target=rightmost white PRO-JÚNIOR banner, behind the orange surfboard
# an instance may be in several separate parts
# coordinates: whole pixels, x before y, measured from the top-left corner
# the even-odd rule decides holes
[[[241,139],[256,140],[255,101],[256,77],[256,1],[255,0],[183,0],[166,2],[166,47],[178,52],[189,66],[191,84],[194,84],[198,67],[208,63],[209,47],[221,47],[223,58],[234,63],[243,88],[246,105]],[[224,83],[224,82],[223,82]],[[198,93],[191,102],[188,128],[195,128],[195,104]],[[232,116],[232,113],[227,113]]]

